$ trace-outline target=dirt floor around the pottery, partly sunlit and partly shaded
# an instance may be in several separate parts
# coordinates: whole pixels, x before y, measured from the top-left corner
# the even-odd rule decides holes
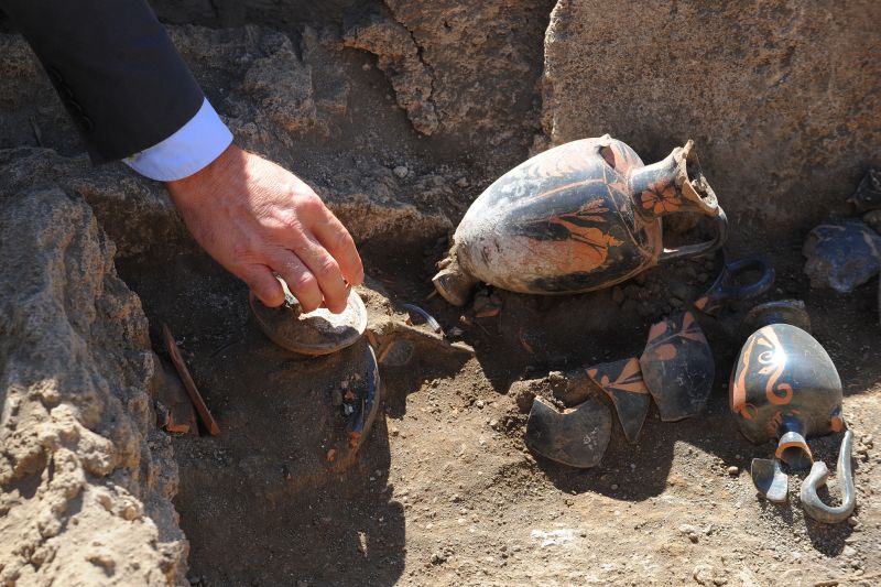
[[[650,272],[621,292],[620,320],[601,317],[621,297],[612,292],[547,300],[498,292],[501,314],[474,318],[471,309],[424,301],[437,248],[428,243],[411,258],[367,248],[369,285],[389,300],[367,287],[368,307],[403,322],[401,303],[422,304],[447,333],[461,328],[475,357],[416,352],[404,367],[382,367],[380,417],[347,470],[325,463],[328,434],[339,425],[330,394],[348,372],[339,357],[298,359],[274,347],[249,316],[243,286],[203,257],[120,268],[152,328],[174,325],[224,431],[174,441],[175,504],[191,541],[192,581],[877,584],[881,365],[872,349],[881,329],[867,319],[872,287],[847,298],[812,293],[797,265],[777,262],[780,287],[769,296],[807,294],[815,335],[845,384],[858,507],[847,523],[829,526],[798,507],[804,474],[793,475],[787,504],[757,497],[749,463],[770,456],[773,445],[750,445],[728,411],[736,313],[700,318],[717,359],[706,414],[662,423],[653,406],[635,446],[616,424],[591,470],[525,448],[525,415],[507,394],[513,381],[640,352],[648,325],[667,309],[657,300],[676,300],[671,284],[696,273],[694,286],[678,291],[694,298],[711,263]],[[651,292],[659,297],[648,305],[630,304]],[[837,435],[811,446],[834,466],[839,442]],[[837,491],[833,479],[827,499]]]

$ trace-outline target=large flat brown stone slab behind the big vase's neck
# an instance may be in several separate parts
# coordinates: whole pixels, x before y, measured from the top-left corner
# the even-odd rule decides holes
[[[795,239],[878,163],[879,19],[872,0],[559,0],[543,124],[555,144],[609,132],[646,162],[692,138],[735,242]]]

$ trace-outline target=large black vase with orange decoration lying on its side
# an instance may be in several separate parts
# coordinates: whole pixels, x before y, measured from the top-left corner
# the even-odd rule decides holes
[[[661,217],[683,211],[716,218],[717,236],[664,250]],[[433,281],[455,305],[481,281],[520,293],[589,292],[660,260],[713,251],[726,226],[692,141],[643,165],[606,134],[545,151],[497,180],[466,213]]]

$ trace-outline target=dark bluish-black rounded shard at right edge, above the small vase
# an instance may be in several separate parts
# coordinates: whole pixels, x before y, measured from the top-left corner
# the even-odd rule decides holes
[[[819,225],[807,236],[802,253],[812,287],[850,293],[881,269],[881,236],[859,220]]]

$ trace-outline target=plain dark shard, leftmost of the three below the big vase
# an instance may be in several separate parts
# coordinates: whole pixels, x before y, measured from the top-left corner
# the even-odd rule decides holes
[[[590,396],[564,413],[536,396],[526,422],[526,446],[545,458],[588,469],[599,464],[611,436],[609,406]]]

